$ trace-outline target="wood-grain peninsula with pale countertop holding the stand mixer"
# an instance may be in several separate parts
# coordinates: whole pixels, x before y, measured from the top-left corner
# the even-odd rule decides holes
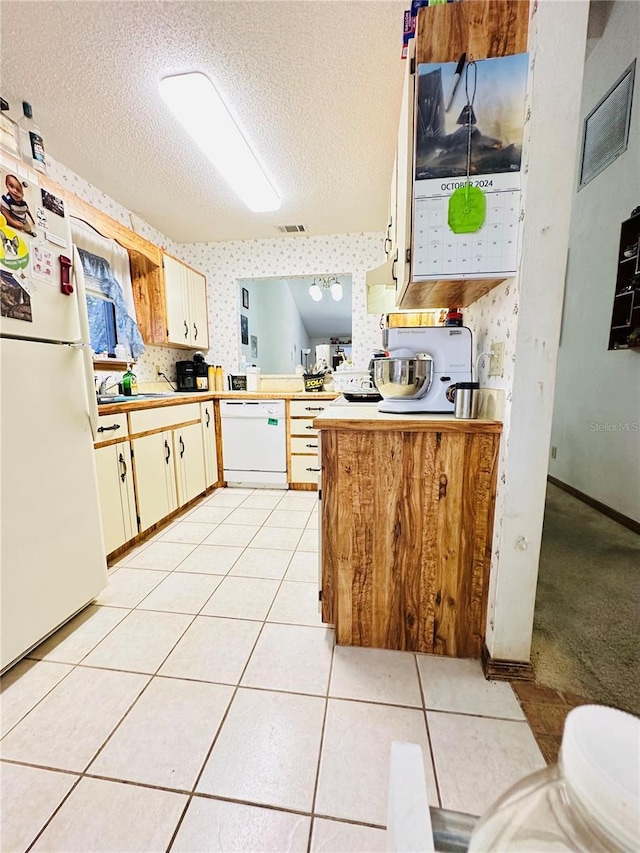
[[[502,424],[334,404],[313,425],[336,642],[479,657]]]

